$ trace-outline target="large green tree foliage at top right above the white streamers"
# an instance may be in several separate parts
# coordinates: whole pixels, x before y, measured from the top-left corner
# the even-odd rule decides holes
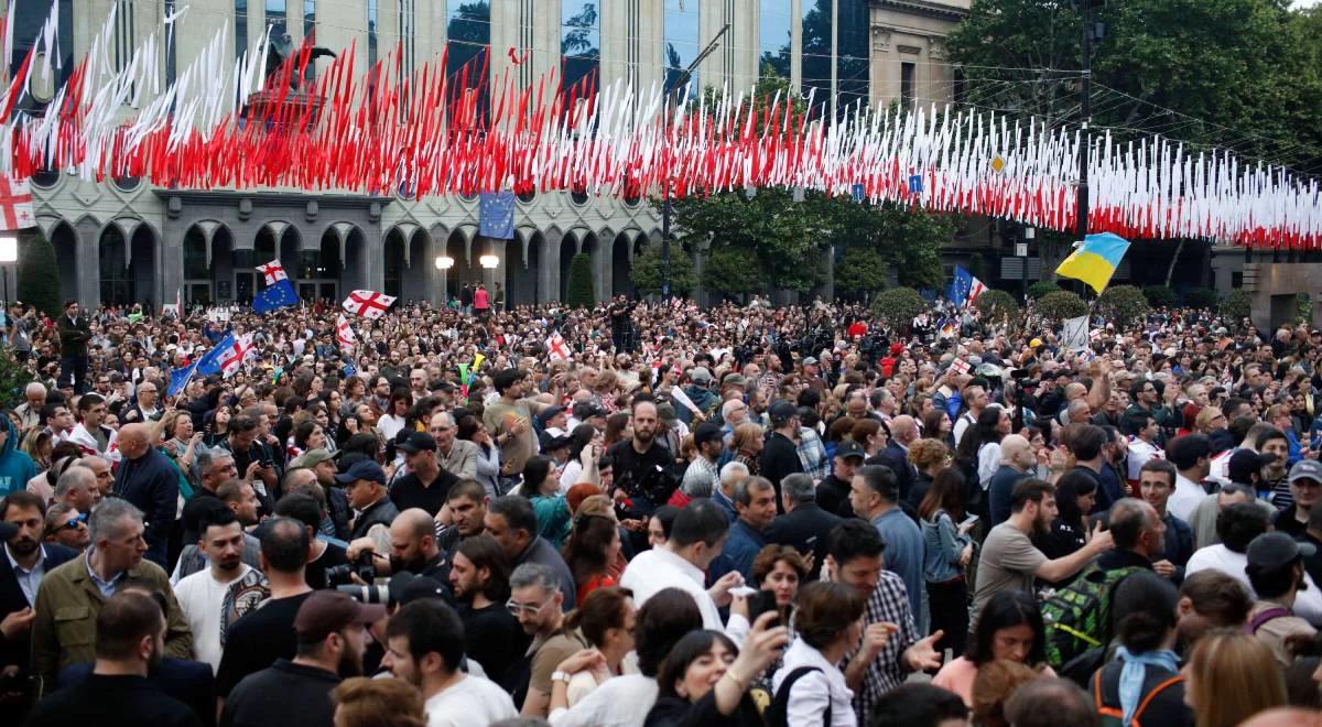
[[[974,0],[947,38],[978,104],[1079,120],[1079,3]],[[1092,122],[1124,140],[1165,132],[1233,144],[1248,156],[1297,164],[1322,145],[1322,13],[1281,0],[1125,0],[1092,11]],[[1167,111],[1170,110],[1170,111]],[[1204,123],[1206,122],[1206,123]],[[1178,127],[1175,127],[1178,124]]]

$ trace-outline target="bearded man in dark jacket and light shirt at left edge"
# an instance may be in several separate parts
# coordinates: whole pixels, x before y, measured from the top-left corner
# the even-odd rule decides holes
[[[28,674],[32,648],[33,607],[42,576],[56,566],[73,559],[74,550],[42,543],[45,506],[41,497],[28,492],[11,492],[0,500],[0,525],[9,534],[5,558],[0,558],[0,670],[16,671],[22,683]],[[19,698],[25,699],[26,695]],[[13,708],[15,702],[0,694],[0,710]],[[21,712],[20,712],[21,714]]]

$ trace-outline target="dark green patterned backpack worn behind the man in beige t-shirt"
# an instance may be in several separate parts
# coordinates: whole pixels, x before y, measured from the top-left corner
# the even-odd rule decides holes
[[[1076,656],[1110,641],[1110,595],[1140,566],[1103,570],[1088,566],[1069,586],[1042,604],[1047,664],[1060,669]]]

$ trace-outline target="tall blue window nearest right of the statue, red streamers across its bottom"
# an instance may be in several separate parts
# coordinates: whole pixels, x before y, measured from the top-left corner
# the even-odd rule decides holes
[[[485,127],[490,110],[492,8],[488,0],[447,0],[446,74],[455,128]]]

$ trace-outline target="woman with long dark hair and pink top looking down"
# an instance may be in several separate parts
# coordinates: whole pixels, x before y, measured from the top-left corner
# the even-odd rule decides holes
[[[998,660],[1027,665],[1055,677],[1046,665],[1046,634],[1042,609],[1031,593],[1001,591],[982,608],[973,641],[960,658],[948,662],[932,685],[951,690],[973,707],[973,679],[978,670]]]

